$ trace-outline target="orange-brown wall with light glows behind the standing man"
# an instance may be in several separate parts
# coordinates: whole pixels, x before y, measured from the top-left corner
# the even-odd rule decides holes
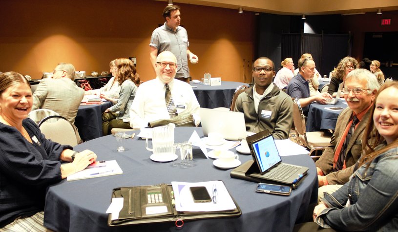
[[[76,70],[108,71],[118,57],[137,58],[143,81],[154,78],[150,36],[165,2],[152,0],[2,0],[0,71],[40,79],[42,72],[67,62]],[[243,61],[253,59],[255,16],[236,10],[180,4],[190,50],[199,63],[191,76],[205,72],[225,81],[244,81]],[[247,65],[246,65],[247,66]]]

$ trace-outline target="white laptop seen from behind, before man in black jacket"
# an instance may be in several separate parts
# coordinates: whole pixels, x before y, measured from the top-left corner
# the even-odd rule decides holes
[[[205,136],[210,132],[217,132],[224,139],[232,141],[247,137],[245,116],[242,112],[200,108],[199,114]]]

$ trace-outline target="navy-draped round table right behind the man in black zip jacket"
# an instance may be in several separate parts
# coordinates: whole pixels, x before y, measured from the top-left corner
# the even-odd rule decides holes
[[[193,87],[193,92],[198,99],[199,105],[202,108],[217,108],[217,107],[231,107],[232,96],[237,87],[241,85],[248,85],[241,82],[225,82],[221,81],[221,85],[210,86],[201,83],[189,83]]]

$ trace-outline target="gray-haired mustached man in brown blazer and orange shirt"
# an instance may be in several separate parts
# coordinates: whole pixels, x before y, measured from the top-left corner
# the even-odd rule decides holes
[[[378,83],[366,69],[351,71],[344,83],[344,98],[349,107],[337,118],[330,145],[315,162],[318,173],[318,199],[324,192],[334,192],[348,182],[362,153],[362,136],[370,119],[370,108]],[[369,136],[369,135],[368,135]]]

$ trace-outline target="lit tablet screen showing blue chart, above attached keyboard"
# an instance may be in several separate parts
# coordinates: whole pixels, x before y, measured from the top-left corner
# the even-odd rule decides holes
[[[282,161],[272,135],[254,141],[251,148],[261,174]]]

